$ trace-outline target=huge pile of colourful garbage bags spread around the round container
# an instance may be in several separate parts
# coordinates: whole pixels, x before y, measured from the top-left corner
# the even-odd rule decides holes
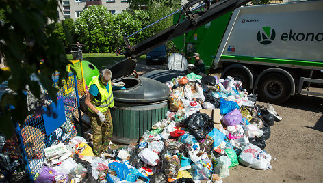
[[[231,77],[194,73],[166,82],[172,91],[166,119],[138,143],[94,156],[83,137],[45,149],[35,182],[222,182],[240,163],[271,169],[265,150],[270,126],[281,117],[272,105]]]

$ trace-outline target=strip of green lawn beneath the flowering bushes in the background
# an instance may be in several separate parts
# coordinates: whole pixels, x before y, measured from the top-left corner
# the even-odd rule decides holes
[[[66,54],[67,58],[72,60],[72,54]],[[125,59],[125,56],[116,56],[116,53],[83,53],[83,60],[90,61],[98,70],[103,70],[104,68],[109,68],[118,61]],[[138,62],[145,61],[146,55],[142,55],[137,58]]]

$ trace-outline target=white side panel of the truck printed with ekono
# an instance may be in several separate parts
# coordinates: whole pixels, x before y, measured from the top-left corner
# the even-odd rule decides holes
[[[223,54],[323,61],[323,1],[242,7],[231,21],[218,58]]]

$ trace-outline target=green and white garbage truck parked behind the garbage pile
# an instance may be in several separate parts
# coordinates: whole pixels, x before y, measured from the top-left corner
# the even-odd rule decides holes
[[[200,53],[211,72],[279,104],[297,93],[323,96],[309,91],[323,83],[322,17],[323,1],[244,6],[173,41],[187,57]]]

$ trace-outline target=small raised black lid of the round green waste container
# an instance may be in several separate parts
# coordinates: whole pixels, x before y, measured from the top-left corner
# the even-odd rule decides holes
[[[129,76],[133,70],[135,70],[136,61],[133,59],[125,59],[117,62],[109,68],[112,72],[112,79],[117,79],[125,76]]]

